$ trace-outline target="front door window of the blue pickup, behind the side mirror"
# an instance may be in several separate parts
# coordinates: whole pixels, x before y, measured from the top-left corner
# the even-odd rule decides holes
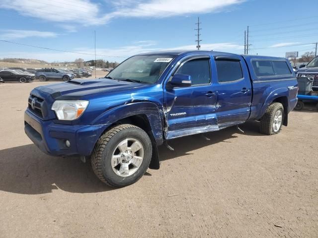
[[[210,79],[210,59],[197,59],[185,62],[176,74],[191,76],[192,85],[208,84]]]

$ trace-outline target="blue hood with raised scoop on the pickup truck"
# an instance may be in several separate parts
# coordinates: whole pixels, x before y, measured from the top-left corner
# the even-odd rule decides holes
[[[49,84],[35,88],[50,94],[53,99],[79,100],[86,95],[119,92],[129,90],[130,92],[149,84],[132,83],[120,80],[99,78],[99,79],[73,79],[68,82]]]

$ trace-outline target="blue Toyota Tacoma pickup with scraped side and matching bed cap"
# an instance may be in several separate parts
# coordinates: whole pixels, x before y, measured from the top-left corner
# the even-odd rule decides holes
[[[25,132],[45,153],[89,159],[96,176],[121,187],[159,169],[157,146],[248,120],[277,134],[297,103],[285,58],[212,51],[133,56],[106,77],[33,89]],[[169,147],[169,146],[168,146]]]

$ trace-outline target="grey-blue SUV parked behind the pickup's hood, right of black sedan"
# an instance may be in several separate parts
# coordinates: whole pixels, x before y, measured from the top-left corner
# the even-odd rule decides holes
[[[50,79],[70,81],[74,78],[74,74],[55,68],[42,68],[36,71],[35,78],[39,79],[41,82],[48,81]]]

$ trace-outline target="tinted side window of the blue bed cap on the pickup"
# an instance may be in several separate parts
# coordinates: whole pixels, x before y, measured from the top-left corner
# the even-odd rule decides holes
[[[287,62],[283,60],[252,60],[252,65],[257,77],[292,74]]]

